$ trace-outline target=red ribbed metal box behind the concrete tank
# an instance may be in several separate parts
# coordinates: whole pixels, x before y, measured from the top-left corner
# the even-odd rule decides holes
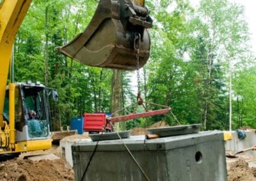
[[[107,128],[109,129],[109,127]],[[106,130],[105,113],[84,113],[84,131],[101,132]]]

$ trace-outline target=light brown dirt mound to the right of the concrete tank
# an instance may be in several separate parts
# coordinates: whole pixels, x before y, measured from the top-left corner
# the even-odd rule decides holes
[[[242,159],[230,164],[228,181],[254,181],[255,176],[256,168],[249,168],[248,163]]]

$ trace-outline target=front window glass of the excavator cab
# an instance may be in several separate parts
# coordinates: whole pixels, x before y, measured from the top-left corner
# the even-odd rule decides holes
[[[42,87],[24,87],[24,96],[29,138],[48,136],[49,122],[46,116],[44,89]]]

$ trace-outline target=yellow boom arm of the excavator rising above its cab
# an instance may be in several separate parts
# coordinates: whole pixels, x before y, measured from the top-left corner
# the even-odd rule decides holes
[[[0,126],[4,127],[3,106],[13,42],[32,0],[0,0]],[[10,94],[12,94],[10,92]],[[14,105],[10,105],[14,115]],[[10,120],[12,122],[12,120]],[[14,120],[13,120],[14,122]],[[13,127],[14,129],[14,127]],[[11,128],[12,130],[12,128]],[[11,138],[12,140],[12,138]]]

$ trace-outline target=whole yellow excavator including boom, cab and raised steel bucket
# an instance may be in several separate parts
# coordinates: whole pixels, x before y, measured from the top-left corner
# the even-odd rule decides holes
[[[51,148],[47,88],[40,82],[6,86],[15,36],[31,1],[0,0],[0,156]],[[85,31],[56,49],[88,66],[139,69],[149,57],[150,27],[145,0],[100,0]]]

